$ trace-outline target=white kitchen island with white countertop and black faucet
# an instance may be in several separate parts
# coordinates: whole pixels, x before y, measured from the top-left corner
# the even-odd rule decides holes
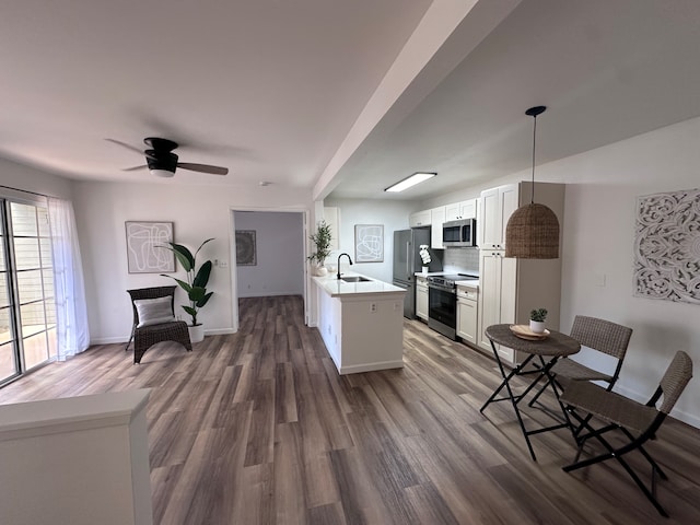
[[[404,366],[406,290],[375,279],[312,279],[318,294],[318,331],[339,374]]]

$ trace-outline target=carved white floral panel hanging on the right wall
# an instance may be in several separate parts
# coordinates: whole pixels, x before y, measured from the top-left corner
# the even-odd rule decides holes
[[[700,189],[637,199],[634,294],[700,304]]]

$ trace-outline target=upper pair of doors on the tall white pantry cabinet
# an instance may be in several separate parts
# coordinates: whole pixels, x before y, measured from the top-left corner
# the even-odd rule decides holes
[[[506,184],[481,191],[481,220],[477,228],[479,247],[482,249],[505,249],[505,226],[511,214],[517,209],[518,185]]]

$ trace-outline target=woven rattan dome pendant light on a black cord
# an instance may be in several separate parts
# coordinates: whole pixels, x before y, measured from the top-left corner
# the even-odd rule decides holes
[[[547,107],[535,106],[525,112],[533,117],[533,191],[529,205],[513,212],[505,226],[505,257],[522,259],[559,258],[559,220],[545,205],[535,203],[535,139],[537,115]]]

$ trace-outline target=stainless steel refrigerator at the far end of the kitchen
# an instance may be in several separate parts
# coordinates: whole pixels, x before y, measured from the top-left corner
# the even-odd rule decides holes
[[[416,318],[416,272],[423,261],[418,253],[421,244],[430,246],[430,228],[413,228],[394,232],[394,277],[392,283],[406,290],[404,317]],[[429,249],[429,271],[442,271],[442,250]]]

